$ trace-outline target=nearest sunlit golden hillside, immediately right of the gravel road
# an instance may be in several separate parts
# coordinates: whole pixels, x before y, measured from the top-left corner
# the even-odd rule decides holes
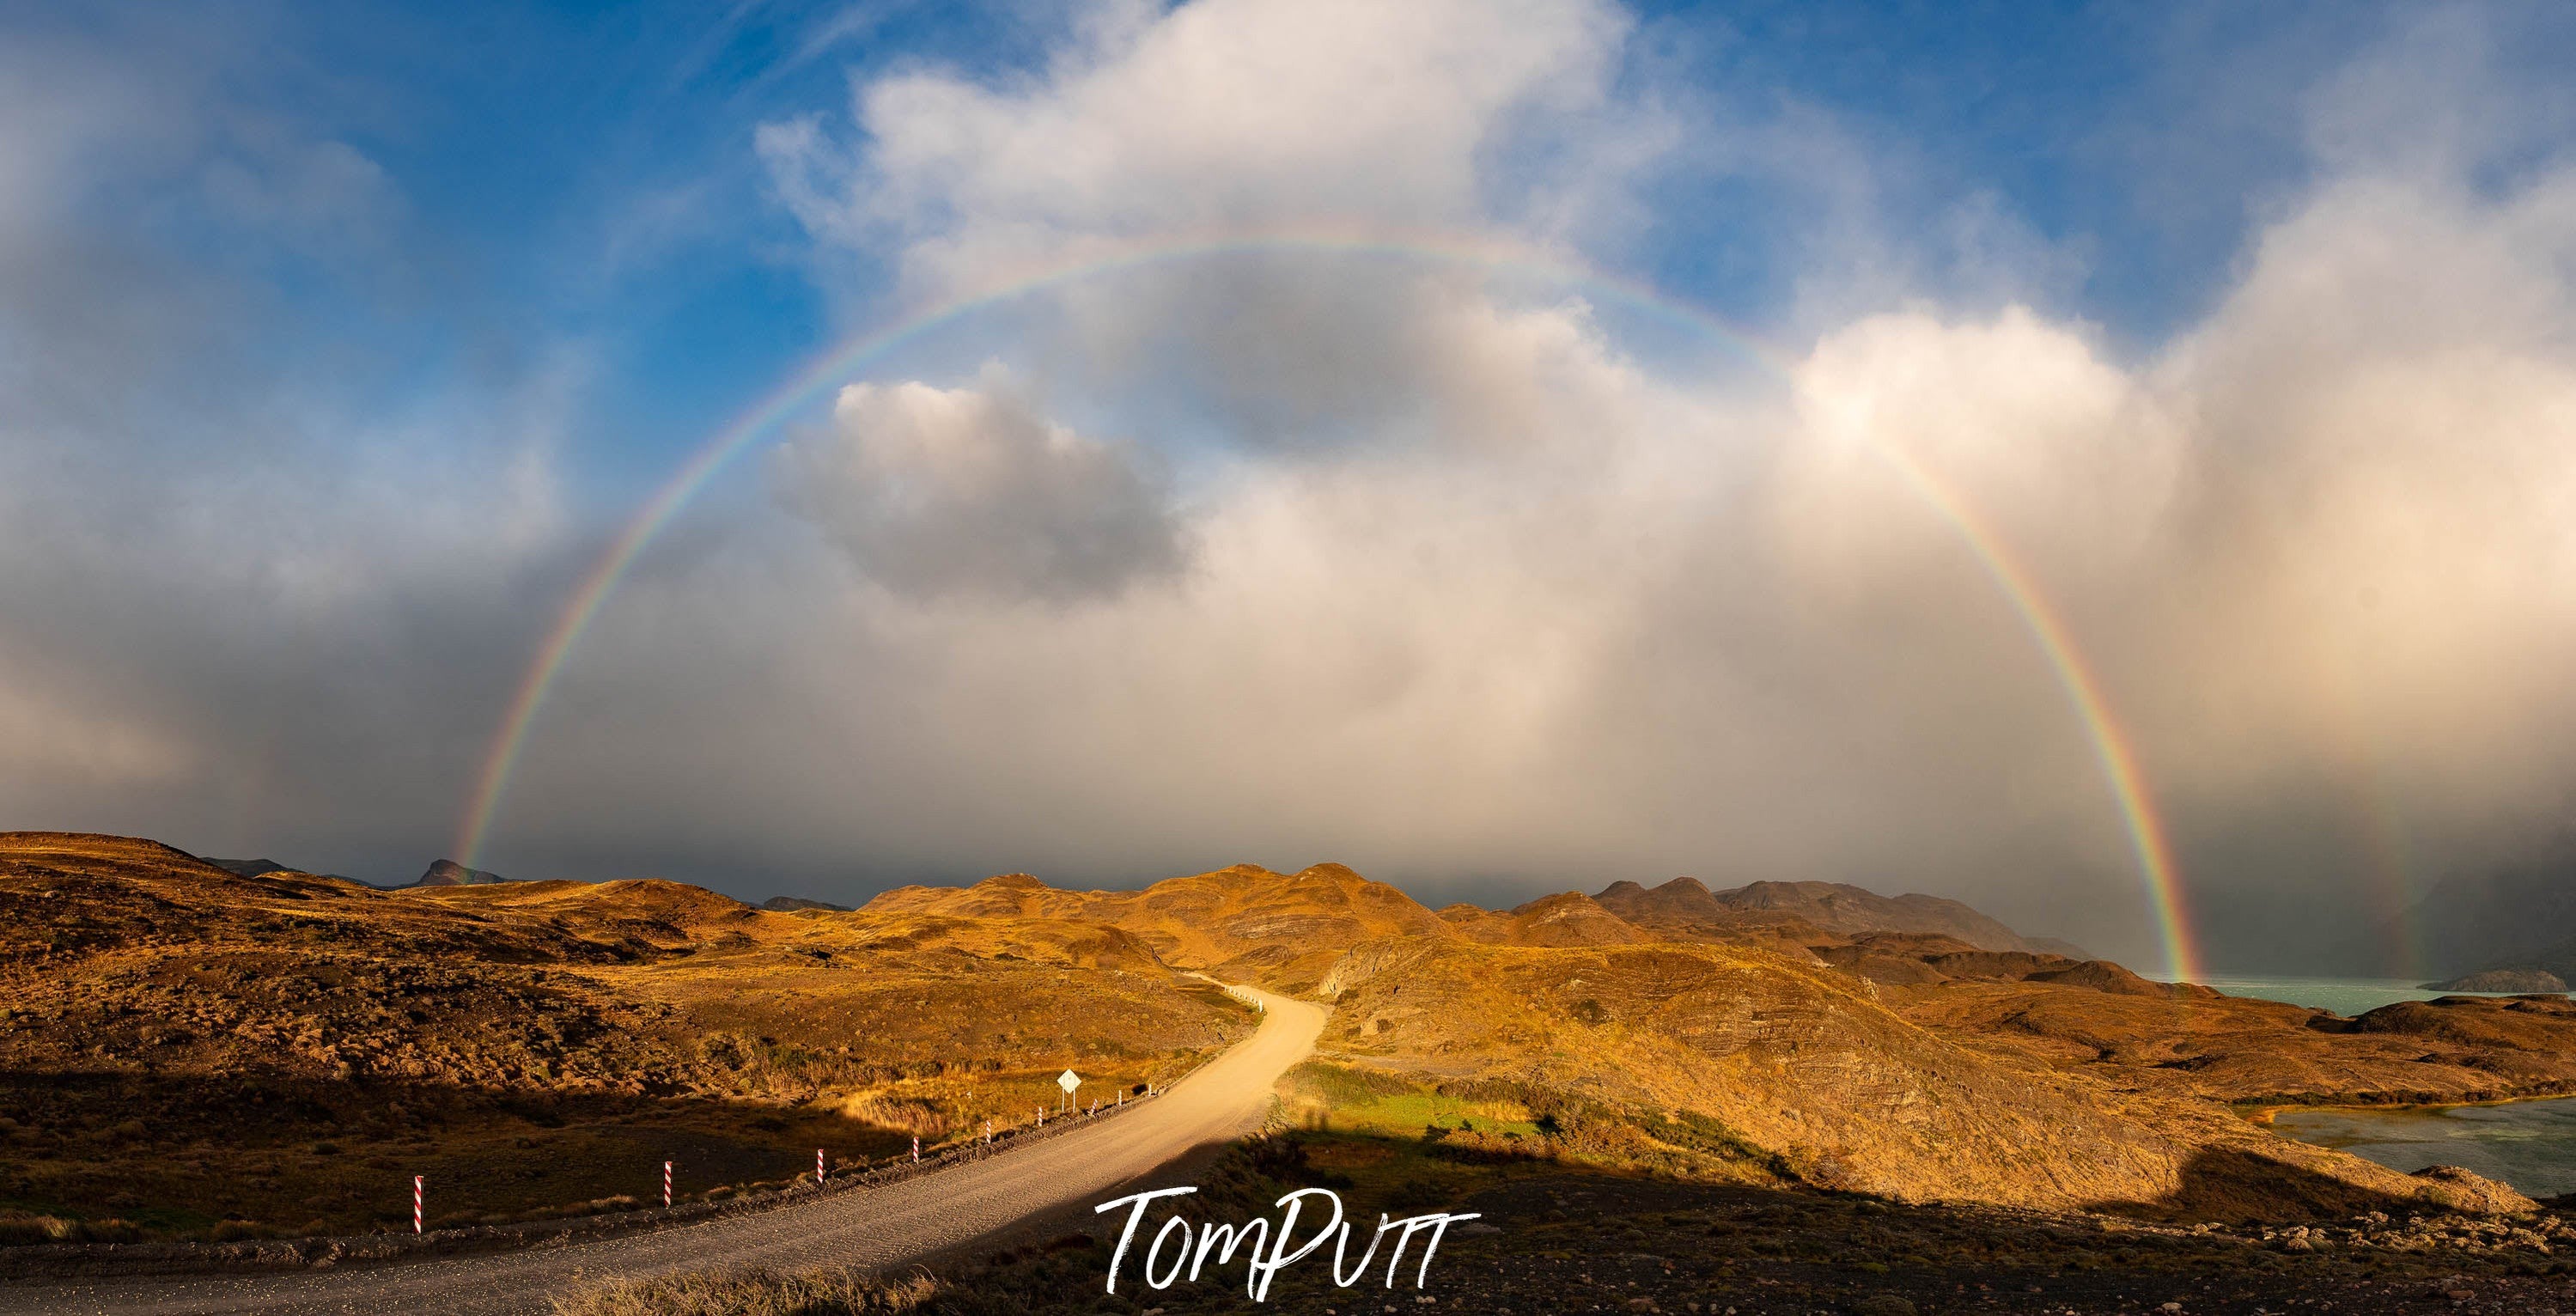
[[[1862,981],[1765,950],[1373,943],[1327,989],[1329,1061],[1481,1097],[1489,1131],[1512,1107],[1548,1113],[1607,1159],[1685,1174],[2187,1218],[2486,1192],[2272,1138],[2213,1102],[1965,1046],[1891,1015]]]

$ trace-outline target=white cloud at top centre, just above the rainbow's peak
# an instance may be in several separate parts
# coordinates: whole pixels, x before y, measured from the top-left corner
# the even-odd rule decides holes
[[[938,286],[1084,242],[1350,224],[1453,229],[1515,113],[1605,98],[1625,18],[1589,0],[1200,0],[1110,23],[1033,85],[868,82],[860,165],[762,134],[786,196],[837,237],[894,234]]]

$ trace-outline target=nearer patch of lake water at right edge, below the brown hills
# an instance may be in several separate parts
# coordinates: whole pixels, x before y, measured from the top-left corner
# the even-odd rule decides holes
[[[2532,1198],[2576,1192],[2576,1097],[2439,1110],[2282,1110],[2272,1131],[2414,1174],[2476,1169]]]

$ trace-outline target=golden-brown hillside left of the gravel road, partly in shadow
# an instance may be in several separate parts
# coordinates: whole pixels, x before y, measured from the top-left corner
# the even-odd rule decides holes
[[[0,1239],[407,1223],[410,1174],[448,1221],[644,1195],[662,1159],[683,1192],[786,1180],[1249,1028],[1090,925],[376,891],[52,832],[0,834]]]

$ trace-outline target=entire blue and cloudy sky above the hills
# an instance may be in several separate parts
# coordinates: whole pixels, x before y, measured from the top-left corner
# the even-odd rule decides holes
[[[2151,961],[2020,572],[2213,945],[2370,937],[2576,783],[2571,57],[2537,3],[0,5],[0,824],[1824,876]],[[1108,258],[726,466],[469,837],[711,435]]]

